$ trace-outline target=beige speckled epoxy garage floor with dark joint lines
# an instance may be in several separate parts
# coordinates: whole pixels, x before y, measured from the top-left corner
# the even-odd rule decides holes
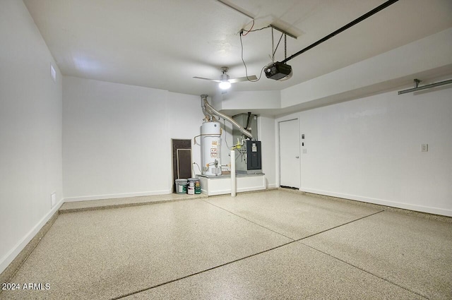
[[[11,280],[49,289],[0,299],[452,299],[447,218],[284,190],[156,202],[59,215]]]

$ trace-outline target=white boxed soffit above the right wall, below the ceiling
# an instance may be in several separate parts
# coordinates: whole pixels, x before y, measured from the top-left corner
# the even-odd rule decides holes
[[[285,112],[356,99],[452,70],[452,28],[281,91]],[[292,108],[291,108],[292,107]],[[285,108],[285,109],[284,109]]]

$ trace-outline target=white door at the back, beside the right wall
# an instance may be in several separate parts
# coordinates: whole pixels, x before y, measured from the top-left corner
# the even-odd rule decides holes
[[[300,187],[298,120],[279,122],[280,186]]]

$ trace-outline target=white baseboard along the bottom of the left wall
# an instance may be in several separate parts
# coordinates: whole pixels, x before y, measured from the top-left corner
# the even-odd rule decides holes
[[[61,198],[61,200],[59,200],[59,202],[52,208],[52,210],[49,210],[49,212],[47,212],[47,214],[42,217],[40,222],[37,222],[35,227],[33,227],[30,232],[28,232],[28,234],[25,234],[25,236],[23,236],[23,238],[18,241],[18,244],[16,244],[16,246],[14,246],[8,253],[6,253],[4,257],[0,259],[0,274],[4,270],[6,270],[6,268],[14,260],[14,258],[19,255],[20,251],[22,251],[25,246],[27,246],[27,244],[30,243],[30,241],[36,236],[36,234],[40,232],[42,227],[50,220],[55,212],[59,210],[63,203],[64,199]]]

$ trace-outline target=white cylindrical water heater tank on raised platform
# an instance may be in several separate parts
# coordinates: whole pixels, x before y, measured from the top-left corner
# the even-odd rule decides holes
[[[204,122],[201,135],[203,174],[221,175],[221,124],[215,121]]]

